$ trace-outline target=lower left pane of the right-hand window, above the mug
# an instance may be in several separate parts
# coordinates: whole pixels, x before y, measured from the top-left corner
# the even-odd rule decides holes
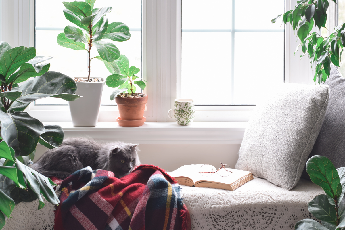
[[[196,104],[229,104],[231,95],[214,92],[229,92],[231,87],[231,33],[183,32],[181,45],[182,98]]]

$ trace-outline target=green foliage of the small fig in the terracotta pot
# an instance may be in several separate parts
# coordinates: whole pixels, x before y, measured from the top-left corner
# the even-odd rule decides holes
[[[117,67],[119,68],[121,74],[112,74],[106,78],[106,84],[109,87],[116,88],[117,90],[110,94],[110,100],[115,100],[115,97],[127,91],[133,96],[136,92],[135,85],[139,86],[140,89],[144,90],[147,81],[137,77],[135,74],[139,73],[140,69],[135,66],[129,67],[129,60],[125,55],[120,55],[120,58],[115,60]]]

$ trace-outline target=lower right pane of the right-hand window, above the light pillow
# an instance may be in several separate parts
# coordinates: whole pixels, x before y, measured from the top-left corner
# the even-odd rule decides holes
[[[251,44],[255,39],[253,48]],[[234,104],[256,104],[256,96],[284,80],[284,33],[238,32],[235,37]],[[277,49],[280,47],[280,49]]]

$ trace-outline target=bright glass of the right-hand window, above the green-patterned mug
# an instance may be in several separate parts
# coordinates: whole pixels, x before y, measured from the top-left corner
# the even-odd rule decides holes
[[[284,0],[182,0],[181,98],[256,104],[284,81]]]

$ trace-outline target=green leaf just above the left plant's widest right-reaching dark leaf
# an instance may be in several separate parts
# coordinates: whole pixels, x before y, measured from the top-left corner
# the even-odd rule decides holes
[[[19,83],[28,80],[31,77],[38,77],[49,70],[50,63],[32,66],[32,64],[24,63],[18,71],[14,72],[6,83]]]

